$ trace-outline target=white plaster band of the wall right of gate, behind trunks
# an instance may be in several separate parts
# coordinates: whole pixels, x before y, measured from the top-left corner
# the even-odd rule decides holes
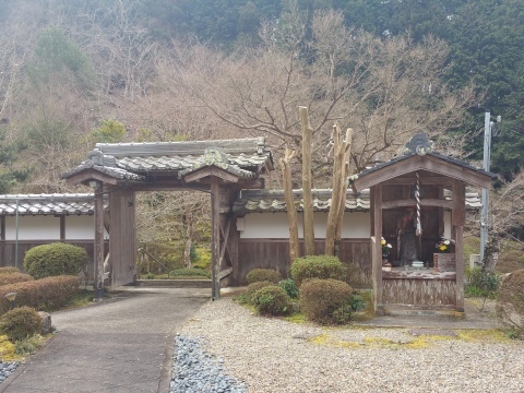
[[[243,239],[287,239],[289,226],[286,213],[253,213],[243,217],[245,229],[240,230]],[[314,213],[314,237],[325,238],[327,213]],[[370,236],[369,213],[345,213],[342,238],[369,238]],[[298,236],[303,237],[302,214],[298,214]]]

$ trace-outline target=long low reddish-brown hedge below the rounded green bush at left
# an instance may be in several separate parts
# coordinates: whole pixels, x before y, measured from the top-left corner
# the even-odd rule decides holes
[[[46,277],[1,286],[0,313],[11,309],[11,303],[4,298],[9,293],[16,293],[17,307],[27,306],[37,310],[56,309],[68,305],[79,291],[79,286],[80,281],[76,276]]]

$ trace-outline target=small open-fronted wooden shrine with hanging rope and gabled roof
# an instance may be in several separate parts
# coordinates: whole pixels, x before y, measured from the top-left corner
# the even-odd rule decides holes
[[[466,186],[489,189],[495,178],[433,152],[425,134],[414,135],[403,154],[350,178],[355,192],[370,189],[377,314],[406,308],[464,312]]]

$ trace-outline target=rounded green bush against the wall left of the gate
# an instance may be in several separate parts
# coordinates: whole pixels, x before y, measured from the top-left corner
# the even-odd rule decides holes
[[[50,243],[33,247],[24,258],[24,269],[36,279],[76,275],[87,264],[87,252],[82,247]]]

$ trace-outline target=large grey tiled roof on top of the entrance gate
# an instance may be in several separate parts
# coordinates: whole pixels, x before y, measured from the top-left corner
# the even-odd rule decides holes
[[[258,177],[260,171],[273,169],[271,151],[264,138],[187,142],[98,143],[83,162],[63,178],[93,168],[122,180],[145,180],[147,175],[174,171],[179,176],[202,166],[217,166],[206,162],[209,150],[225,155],[222,169],[240,177]],[[227,164],[227,165],[226,165]]]

